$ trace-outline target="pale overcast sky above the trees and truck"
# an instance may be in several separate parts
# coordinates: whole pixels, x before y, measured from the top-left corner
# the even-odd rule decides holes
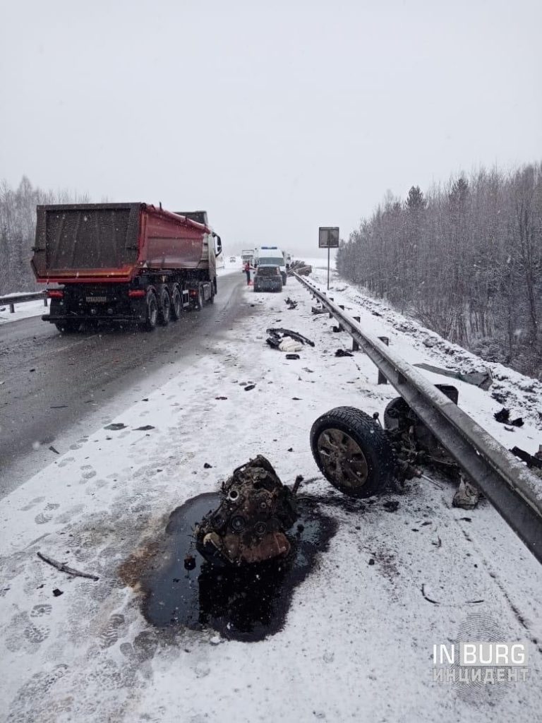
[[[316,255],[387,189],[542,158],[541,0],[4,1],[0,179]]]

